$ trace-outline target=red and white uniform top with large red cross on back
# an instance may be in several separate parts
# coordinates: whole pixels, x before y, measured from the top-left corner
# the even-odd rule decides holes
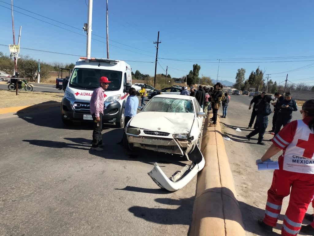
[[[279,169],[314,174],[314,133],[308,119],[292,121],[273,138],[273,143],[283,149]]]

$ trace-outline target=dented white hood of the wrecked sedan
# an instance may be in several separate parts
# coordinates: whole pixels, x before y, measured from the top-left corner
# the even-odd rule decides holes
[[[129,126],[167,133],[188,133],[193,124],[194,113],[140,112]]]

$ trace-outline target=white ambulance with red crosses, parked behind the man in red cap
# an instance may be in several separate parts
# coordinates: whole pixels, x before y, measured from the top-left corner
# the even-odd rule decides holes
[[[93,90],[99,87],[99,79],[106,76],[111,83],[105,90],[103,123],[124,126],[124,104],[132,86],[131,67],[120,60],[80,57],[69,78],[61,102],[61,120],[92,121],[89,101]]]

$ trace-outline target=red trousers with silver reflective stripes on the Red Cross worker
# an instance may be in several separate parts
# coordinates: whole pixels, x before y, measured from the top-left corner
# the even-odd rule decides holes
[[[281,234],[287,236],[296,235],[301,228],[298,225],[302,223],[307,207],[313,200],[314,174],[275,170],[272,185],[267,193],[267,201],[279,206],[282,205],[283,198],[290,193],[289,205],[285,214],[288,221],[284,220]],[[269,206],[266,206],[266,210],[270,212],[269,214],[276,215],[280,213],[280,209],[276,210]],[[274,227],[277,220],[278,217],[273,218],[265,213],[263,222]]]

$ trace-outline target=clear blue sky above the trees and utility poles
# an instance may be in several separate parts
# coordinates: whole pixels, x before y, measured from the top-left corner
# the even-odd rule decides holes
[[[88,0],[13,0],[13,5],[16,44],[22,26],[22,55],[64,64],[86,56],[82,27]],[[259,66],[277,83],[288,74],[288,83],[312,86],[313,9],[313,0],[108,0],[109,56],[154,76],[153,42],[160,31],[157,73],[165,74],[168,66],[168,74],[182,77],[197,63],[200,76],[216,81],[222,59],[219,80],[234,82],[240,68],[247,79]],[[0,51],[9,54],[11,0],[0,0],[0,12]],[[106,0],[94,0],[91,56],[106,58],[106,48]]]

